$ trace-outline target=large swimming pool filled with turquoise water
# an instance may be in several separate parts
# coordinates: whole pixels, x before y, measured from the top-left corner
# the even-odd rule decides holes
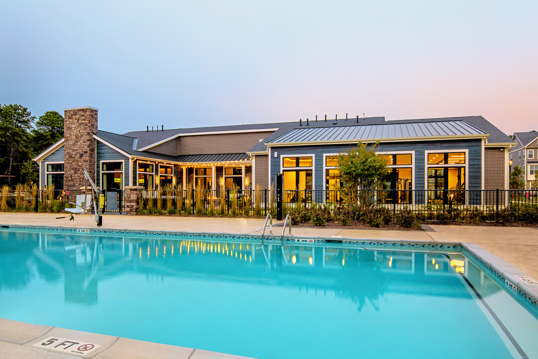
[[[538,357],[535,307],[459,245],[75,231],[0,230],[0,317],[262,359]]]

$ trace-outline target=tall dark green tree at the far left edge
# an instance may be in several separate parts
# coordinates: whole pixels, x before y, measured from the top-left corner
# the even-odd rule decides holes
[[[0,172],[8,185],[21,182],[20,167],[30,157],[29,135],[36,116],[18,104],[0,104]]]

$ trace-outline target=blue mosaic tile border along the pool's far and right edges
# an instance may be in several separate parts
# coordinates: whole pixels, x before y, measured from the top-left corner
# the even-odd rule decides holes
[[[152,237],[213,237],[216,240],[247,240],[260,241],[261,235],[254,236],[250,234],[227,234],[227,233],[205,233],[205,232],[174,232],[174,231],[150,231],[150,230],[129,230],[129,229],[95,229],[95,228],[76,228],[76,227],[52,227],[52,226],[20,226],[17,224],[0,224],[0,229],[18,229],[25,231],[47,231],[52,233],[72,233],[72,234],[95,234],[95,235],[114,235],[114,236],[152,236]],[[308,242],[298,242],[297,239],[307,239]],[[278,235],[267,235],[264,241],[277,244],[281,242]],[[284,236],[285,243],[297,243],[299,245],[308,244],[345,244],[353,247],[371,245],[384,249],[436,249],[436,250],[461,250],[469,256],[481,268],[492,274],[501,283],[504,283],[506,290],[519,297],[530,307],[538,312],[538,285],[532,285],[518,278],[525,276],[525,273],[506,262],[504,259],[495,256],[490,251],[475,243],[466,242],[436,242],[436,241],[386,241],[386,240],[364,240],[360,238],[328,238],[328,237],[304,237],[304,236]]]

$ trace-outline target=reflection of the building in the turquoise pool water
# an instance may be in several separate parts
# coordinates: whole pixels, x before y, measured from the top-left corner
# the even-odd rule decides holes
[[[314,293],[332,291],[353,301],[358,310],[366,302],[377,307],[388,292],[465,295],[454,290],[462,285],[458,273],[475,286],[486,285],[484,273],[457,253],[43,234],[34,255],[39,267],[63,277],[66,301],[87,304],[97,302],[99,280],[125,272],[143,274],[140,280],[148,281],[246,280]]]

